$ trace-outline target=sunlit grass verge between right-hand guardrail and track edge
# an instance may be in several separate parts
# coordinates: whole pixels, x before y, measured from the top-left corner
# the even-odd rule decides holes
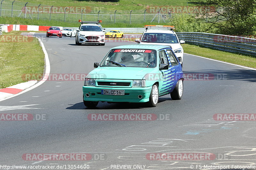
[[[255,56],[230,53],[191,44],[182,44],[182,47],[184,49],[184,52],[188,54],[199,55],[206,58],[212,58],[214,60],[220,60],[246,67],[256,68]]]

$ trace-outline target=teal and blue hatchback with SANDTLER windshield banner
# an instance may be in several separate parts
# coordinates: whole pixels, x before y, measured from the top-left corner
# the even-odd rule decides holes
[[[183,94],[181,64],[169,46],[118,46],[94,68],[84,80],[86,107],[96,107],[99,101],[156,107],[159,96],[171,94],[172,100],[180,100]]]

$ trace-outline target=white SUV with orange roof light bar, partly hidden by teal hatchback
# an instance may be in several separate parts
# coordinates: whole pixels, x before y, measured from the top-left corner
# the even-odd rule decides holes
[[[147,26],[146,30],[142,34],[140,39],[136,39],[135,42],[139,44],[153,44],[153,45],[167,45],[172,48],[178,60],[183,63],[183,48],[180,44],[184,44],[185,41],[180,40],[176,33],[172,30],[173,26]],[[148,29],[154,27],[155,29]],[[159,29],[157,29],[157,28]]]

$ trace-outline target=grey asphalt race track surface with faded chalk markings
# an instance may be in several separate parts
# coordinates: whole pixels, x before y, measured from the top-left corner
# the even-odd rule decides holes
[[[75,38],[36,33],[44,42],[51,74],[86,74],[112,47],[75,45]],[[83,81],[45,81],[39,87],[0,102],[0,114],[46,115],[46,120],[1,121],[1,165],[89,165],[90,169],[199,169],[201,166],[256,166],[255,121],[215,121],[214,114],[256,113],[256,72],[242,67],[184,55],[181,100],[160,97],[154,108],[143,104],[99,103],[84,107]],[[196,74],[211,74],[200,80]],[[192,76],[192,77],[193,77]],[[25,106],[28,105],[28,106]],[[166,120],[89,121],[88,114],[156,114]],[[165,115],[167,114],[167,115]],[[212,153],[211,160],[148,160],[147,153]],[[25,153],[90,153],[99,160],[29,161]],[[95,156],[96,155],[96,156]],[[142,165],[142,168],[134,165]],[[190,167],[193,165],[194,167]],[[135,168],[133,168],[133,166]],[[144,167],[145,166],[145,167]],[[3,168],[4,169],[4,168]],[[70,168],[71,169],[71,168]],[[202,169],[202,168],[201,168]]]

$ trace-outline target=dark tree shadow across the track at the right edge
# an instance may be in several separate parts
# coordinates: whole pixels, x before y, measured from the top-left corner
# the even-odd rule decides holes
[[[201,74],[201,76],[199,75]],[[203,74],[203,75],[202,75]],[[198,70],[183,71],[184,80],[241,80],[248,82],[256,82],[256,71],[238,69],[238,70]]]

